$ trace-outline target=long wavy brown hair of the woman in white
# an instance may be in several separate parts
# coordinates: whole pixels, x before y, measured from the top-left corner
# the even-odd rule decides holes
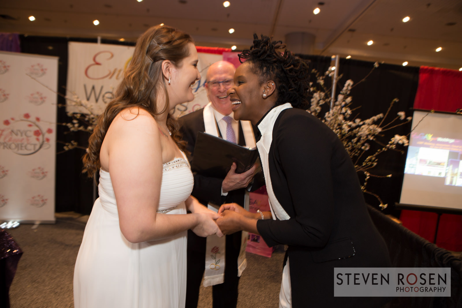
[[[164,60],[170,60],[173,65],[181,66],[181,61],[189,55],[190,42],[194,43],[187,33],[168,26],[154,26],[140,36],[114,100],[99,116],[98,124],[88,139],[88,150],[83,157],[83,172],[89,177],[94,177],[101,167],[99,152],[104,136],[122,109],[136,106],[148,111],[154,119],[169,111],[167,85],[161,64]],[[166,102],[164,109],[157,111],[157,103],[163,103],[157,102],[159,93],[165,95]],[[184,149],[185,143],[181,140],[178,121],[170,114],[167,115],[167,127],[176,144]]]

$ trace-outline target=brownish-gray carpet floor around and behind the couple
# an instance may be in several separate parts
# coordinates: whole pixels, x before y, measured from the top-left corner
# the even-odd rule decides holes
[[[10,288],[11,308],[73,308],[73,270],[87,216],[57,213],[55,224],[21,224],[8,232],[24,251]],[[238,308],[277,308],[284,252],[247,254]],[[201,287],[198,308],[212,307],[212,288]]]

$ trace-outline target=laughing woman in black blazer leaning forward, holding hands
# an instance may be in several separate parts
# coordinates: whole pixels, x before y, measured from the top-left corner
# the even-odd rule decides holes
[[[381,307],[386,299],[334,297],[334,267],[389,267],[389,254],[341,141],[305,111],[308,66],[284,47],[254,35],[228,90],[234,118],[260,130],[271,212],[222,205],[217,223],[225,234],[246,230],[268,246],[288,245],[280,307]]]

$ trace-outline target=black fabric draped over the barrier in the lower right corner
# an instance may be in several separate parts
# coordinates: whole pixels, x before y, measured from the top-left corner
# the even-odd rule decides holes
[[[396,297],[389,308],[461,308],[462,260],[428,242],[371,206],[369,214],[388,246],[394,267],[450,267],[450,297]]]

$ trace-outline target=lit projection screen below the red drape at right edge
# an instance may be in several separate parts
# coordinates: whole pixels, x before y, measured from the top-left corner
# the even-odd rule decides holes
[[[400,204],[462,211],[462,115],[427,113],[414,111]]]

